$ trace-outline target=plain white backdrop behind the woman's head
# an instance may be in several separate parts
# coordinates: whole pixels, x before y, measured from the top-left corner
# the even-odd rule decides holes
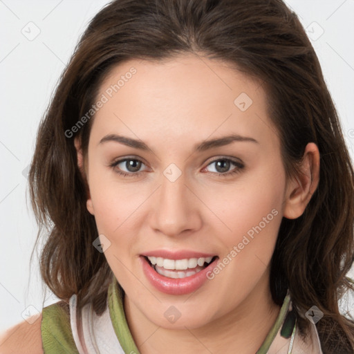
[[[30,268],[37,225],[26,197],[28,165],[59,75],[88,21],[108,2],[0,0],[0,330],[42,308],[36,257]],[[354,0],[287,3],[308,29],[353,156]],[[44,305],[55,301],[47,293]],[[347,305],[354,308],[353,299]]]

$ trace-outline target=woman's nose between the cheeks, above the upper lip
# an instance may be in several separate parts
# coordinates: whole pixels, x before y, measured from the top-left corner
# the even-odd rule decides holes
[[[153,198],[153,230],[167,236],[178,236],[199,230],[201,225],[198,198],[185,184],[184,175],[174,182],[162,176],[160,188]]]

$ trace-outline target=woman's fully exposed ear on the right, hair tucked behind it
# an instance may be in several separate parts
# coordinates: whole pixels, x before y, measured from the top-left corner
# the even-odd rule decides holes
[[[319,183],[319,150],[314,142],[306,145],[297,176],[286,187],[283,216],[298,218],[304,213]]]

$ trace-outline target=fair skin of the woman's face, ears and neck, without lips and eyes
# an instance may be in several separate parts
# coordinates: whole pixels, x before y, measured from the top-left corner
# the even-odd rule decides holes
[[[281,218],[301,216],[315,192],[317,146],[307,145],[302,173],[287,180],[265,91],[220,60],[196,55],[130,60],[113,68],[97,97],[132,66],[136,74],[95,114],[88,153],[84,156],[80,140],[75,147],[88,185],[87,209],[111,243],[104,254],[126,293],[133,338],[142,354],[254,354],[279,314],[269,272]],[[241,93],[253,101],[246,111],[234,104]],[[194,151],[204,140],[231,133],[257,142]],[[149,150],[100,143],[109,134],[141,140]],[[110,166],[128,157],[142,161],[140,175],[132,176],[136,172],[124,162]],[[225,158],[244,167],[230,162],[226,172],[238,173],[218,176],[222,170],[215,161]],[[181,172],[174,182],[163,174],[171,163]],[[192,294],[159,292],[142,272],[140,254],[157,249],[197,250],[223,259],[272,210],[277,216]],[[181,314],[173,324],[164,316],[170,306]],[[39,326],[36,333],[40,339]]]

